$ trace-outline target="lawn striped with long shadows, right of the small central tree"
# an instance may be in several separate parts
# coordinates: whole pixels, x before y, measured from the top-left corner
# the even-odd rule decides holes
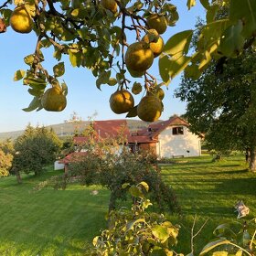
[[[248,172],[242,155],[225,157],[212,162],[212,156],[176,159],[172,165],[162,166],[165,183],[176,191],[182,208],[180,217],[171,216],[181,226],[176,251],[191,251],[191,229],[196,217],[194,234],[207,220],[207,224],[195,238],[195,252],[213,238],[212,231],[221,223],[237,219],[234,205],[238,200],[256,216],[256,174]]]

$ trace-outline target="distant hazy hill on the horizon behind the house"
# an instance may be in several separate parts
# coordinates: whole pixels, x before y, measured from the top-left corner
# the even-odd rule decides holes
[[[141,120],[126,120],[126,122],[131,131],[143,129],[148,125],[148,123]],[[88,124],[89,124],[89,121],[80,121],[78,123],[67,122],[67,123],[51,124],[46,127],[52,128],[55,131],[55,133],[57,133],[59,137],[61,137],[61,136],[72,135],[75,130],[79,130],[81,132],[85,129],[85,127]],[[5,139],[8,139],[8,138],[10,138],[11,140],[15,140],[23,132],[24,130],[0,133],[0,141],[4,141]]]

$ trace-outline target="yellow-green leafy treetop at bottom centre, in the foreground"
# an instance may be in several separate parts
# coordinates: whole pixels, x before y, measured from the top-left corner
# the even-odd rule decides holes
[[[131,210],[113,210],[109,219],[109,229],[93,239],[94,250],[91,255],[173,255],[179,227],[168,221],[163,214],[146,212],[152,203],[144,194],[149,186],[145,182],[129,187],[133,197]]]

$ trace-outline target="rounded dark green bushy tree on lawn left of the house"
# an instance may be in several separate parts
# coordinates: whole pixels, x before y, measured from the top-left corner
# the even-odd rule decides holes
[[[61,142],[52,129],[28,125],[15,141],[14,172],[39,175],[43,167],[53,164]]]

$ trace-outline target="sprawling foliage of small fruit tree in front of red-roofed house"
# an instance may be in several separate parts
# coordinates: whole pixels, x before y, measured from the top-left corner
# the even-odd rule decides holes
[[[65,188],[73,180],[81,185],[101,185],[111,191],[109,210],[116,207],[118,200],[126,199],[124,183],[136,185],[145,181],[150,188],[150,197],[161,210],[179,211],[175,192],[165,185],[157,168],[155,155],[150,152],[133,154],[124,145],[122,133],[117,138],[95,139],[89,126],[85,132],[88,141],[80,144],[69,161],[69,171],[57,177],[56,188]]]

